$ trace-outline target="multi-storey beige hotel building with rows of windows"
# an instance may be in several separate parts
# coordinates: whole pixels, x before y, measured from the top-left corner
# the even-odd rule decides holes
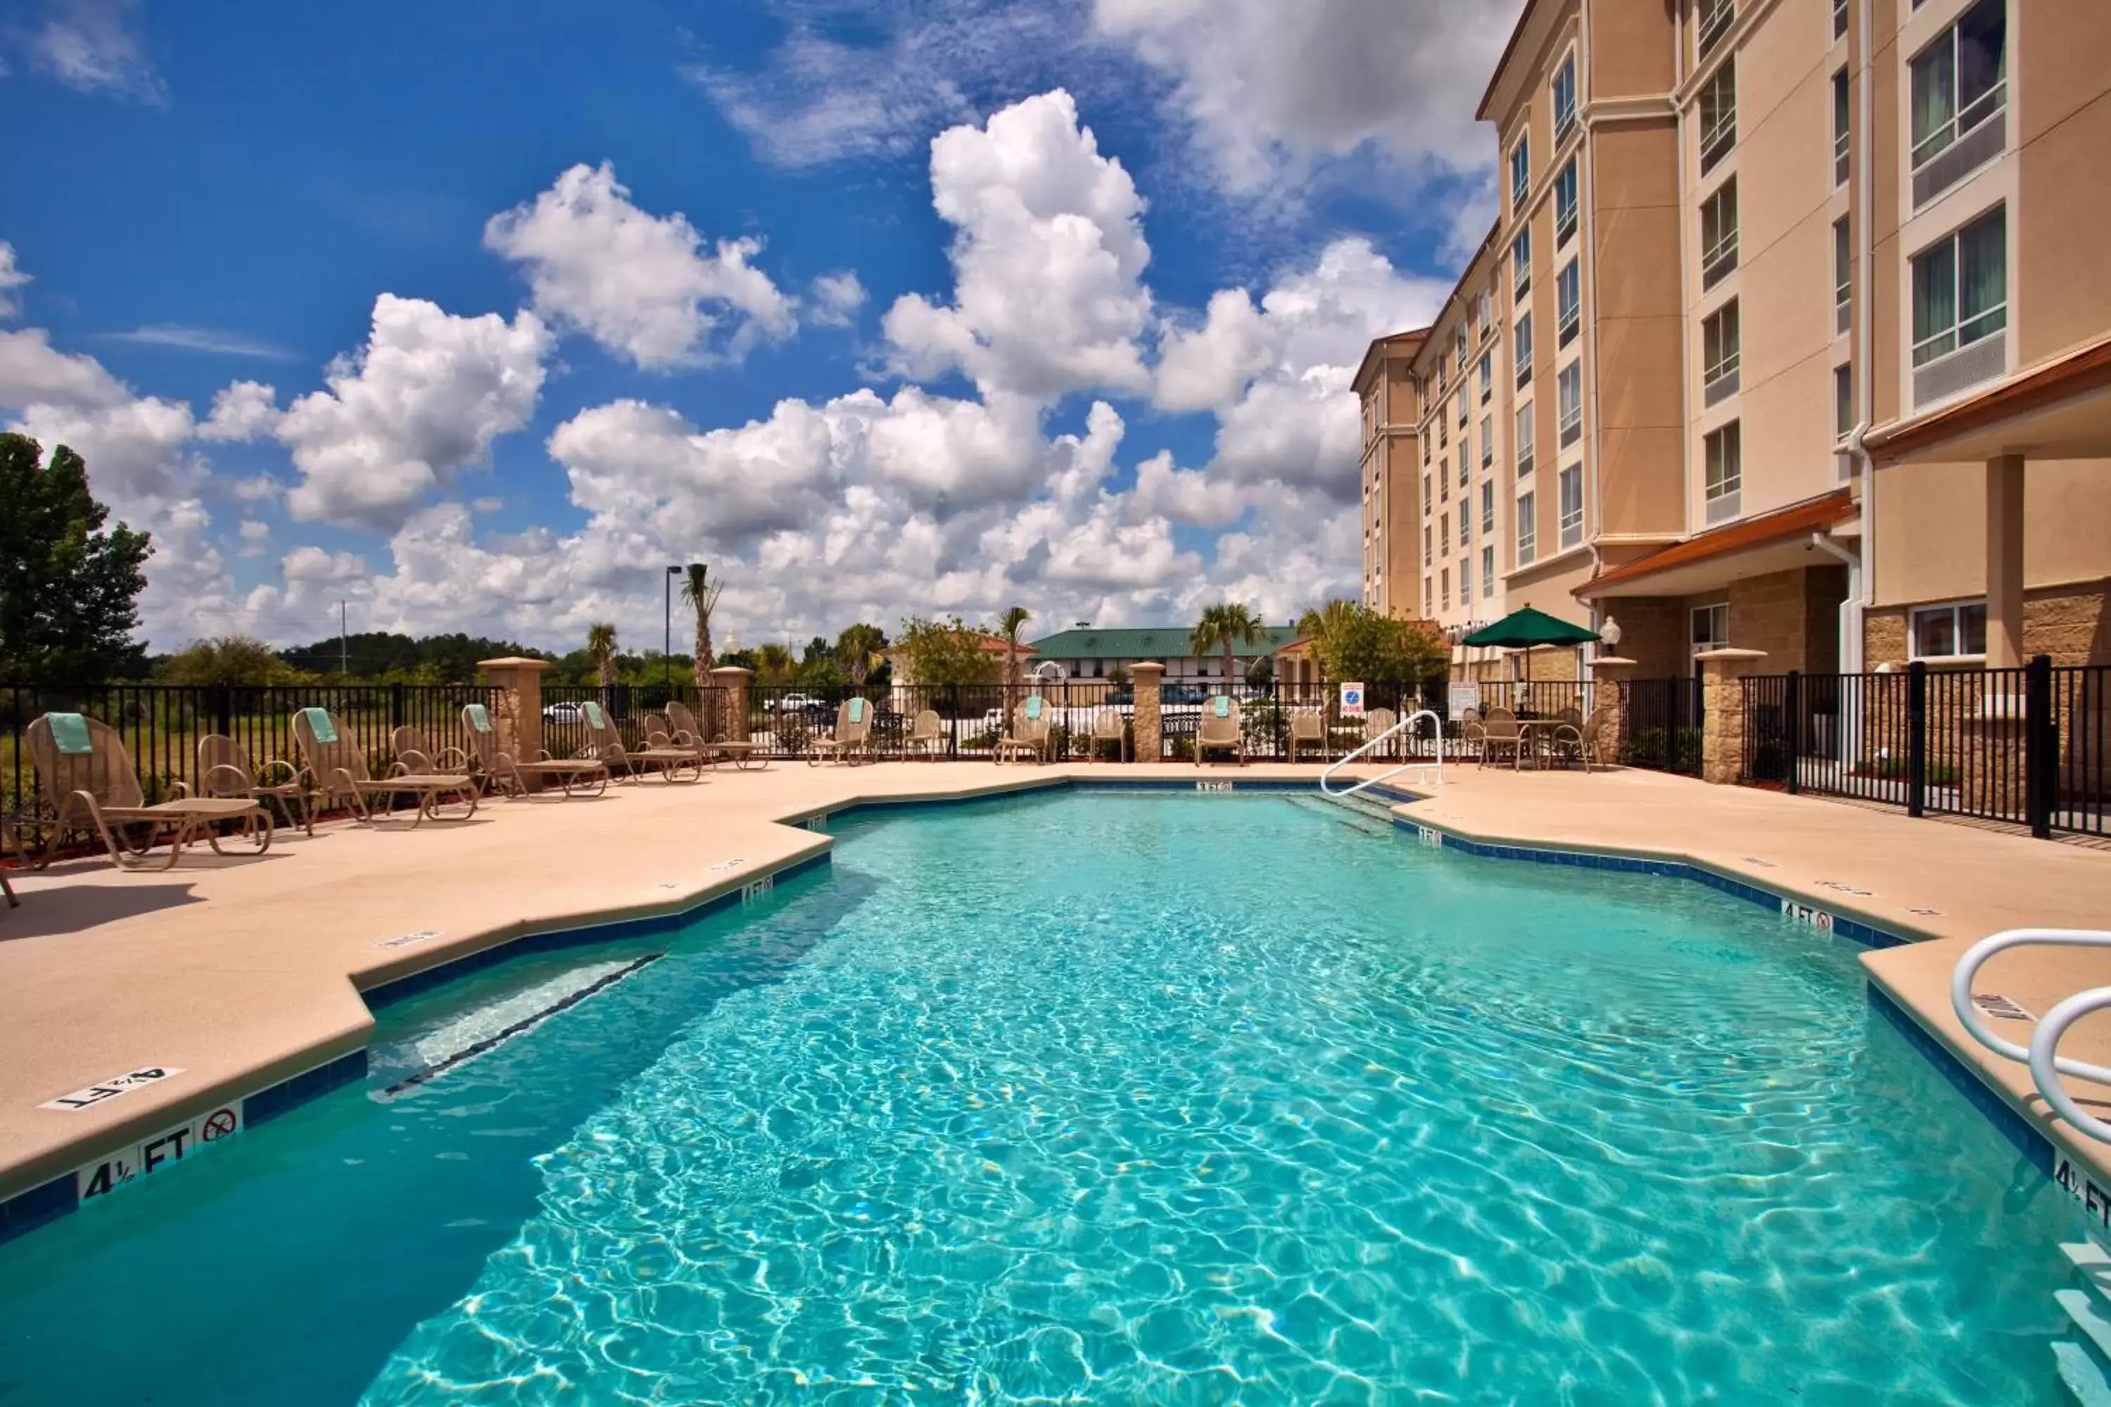
[[[1501,217],[1355,378],[1370,605],[2111,660],[2111,2],[1530,0],[1478,116]]]

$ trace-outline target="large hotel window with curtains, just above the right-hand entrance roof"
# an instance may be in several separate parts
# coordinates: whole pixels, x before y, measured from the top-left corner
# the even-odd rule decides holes
[[[1995,207],[1913,257],[1913,394],[1934,401],[2003,371],[2008,211]]]

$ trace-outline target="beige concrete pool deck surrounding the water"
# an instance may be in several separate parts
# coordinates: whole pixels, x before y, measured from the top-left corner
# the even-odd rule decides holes
[[[281,831],[266,856],[205,850],[167,873],[120,873],[106,859],[15,871],[23,907],[0,911],[0,1202],[357,1057],[374,1027],[365,989],[536,932],[682,913],[815,859],[830,840],[798,825],[815,814],[1070,778],[1315,776],[1283,764],[773,764],[600,799],[488,802],[471,821],[416,831]],[[1929,939],[1866,953],[1870,979],[2111,1188],[2111,1150],[2052,1120],[2020,1065],[1980,1059],[1946,994],[1955,956],[1978,937],[2111,926],[2111,852],[1634,770],[1450,768],[1446,787],[1393,814],[1486,844],[1678,861]],[[2111,953],[2020,951],[1980,979],[2033,1013],[2084,985],[2111,985]],[[2067,1051],[2111,1063],[2111,1019],[2077,1027]],[[38,1107],[150,1065],[182,1074],[82,1110]],[[2111,1105],[2111,1088],[2077,1093]]]

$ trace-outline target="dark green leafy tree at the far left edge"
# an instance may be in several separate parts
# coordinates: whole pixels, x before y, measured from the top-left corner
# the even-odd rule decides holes
[[[0,435],[0,677],[97,683],[135,675],[148,534],[103,529],[89,466],[59,445]]]

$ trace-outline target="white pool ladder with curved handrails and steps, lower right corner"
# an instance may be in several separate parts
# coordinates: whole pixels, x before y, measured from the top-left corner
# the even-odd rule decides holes
[[[2092,987],[2058,1002],[2031,1032],[2031,1044],[2020,1046],[1986,1025],[1972,994],[1972,979],[1978,977],[1986,960],[2012,947],[2111,947],[2111,932],[2100,928],[2010,928],[1974,943],[1951,970],[1951,1010],[1957,1013],[1965,1032],[1995,1055],[2029,1065],[2039,1097],[2067,1120],[2069,1129],[2098,1143],[2111,1143],[2111,1124],[2077,1105],[2067,1086],[2060,1084],[2062,1074],[2111,1084],[2111,1069],[2060,1055],[2060,1038],[2075,1021],[2111,1006],[2111,987]],[[2020,1013],[2020,1008],[2016,1010]],[[2012,1015],[2010,1019],[2020,1017]],[[2065,1242],[2060,1251],[2088,1280],[2088,1289],[2054,1293],[2081,1339],[2056,1342],[2052,1358],[2058,1363],[2060,1382],[2067,1384],[2077,1403],[2111,1407],[2111,1251],[2096,1240],[2094,1232],[2086,1240]]]

